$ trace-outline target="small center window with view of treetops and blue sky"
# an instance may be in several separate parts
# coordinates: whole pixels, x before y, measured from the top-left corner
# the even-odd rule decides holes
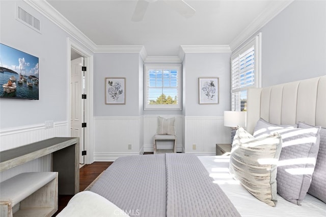
[[[145,110],[181,110],[181,65],[146,64]]]

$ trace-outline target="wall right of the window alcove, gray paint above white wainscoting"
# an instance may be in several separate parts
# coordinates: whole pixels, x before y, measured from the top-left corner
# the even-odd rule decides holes
[[[230,110],[231,53],[186,53],[183,62],[184,151],[215,155],[216,143],[229,142],[223,113]],[[199,104],[199,77],[219,77],[219,104]],[[196,144],[196,150],[193,150]]]

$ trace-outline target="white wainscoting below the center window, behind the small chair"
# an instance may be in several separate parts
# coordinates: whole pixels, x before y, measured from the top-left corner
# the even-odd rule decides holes
[[[157,128],[157,115],[146,115],[144,116],[144,151],[152,152],[154,151],[153,143],[154,143],[154,135],[156,133]],[[181,115],[173,115],[173,116],[161,116],[164,118],[172,118],[175,117],[175,131],[177,135],[177,152],[182,152],[182,132],[183,132],[183,116]],[[169,142],[158,142],[158,148],[163,148],[163,146],[167,144],[168,148],[172,148],[172,143]]]

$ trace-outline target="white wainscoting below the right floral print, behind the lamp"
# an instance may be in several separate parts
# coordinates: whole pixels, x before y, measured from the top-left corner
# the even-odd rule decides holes
[[[230,128],[224,126],[223,117],[185,117],[184,126],[186,153],[215,155],[216,143],[230,143]]]

